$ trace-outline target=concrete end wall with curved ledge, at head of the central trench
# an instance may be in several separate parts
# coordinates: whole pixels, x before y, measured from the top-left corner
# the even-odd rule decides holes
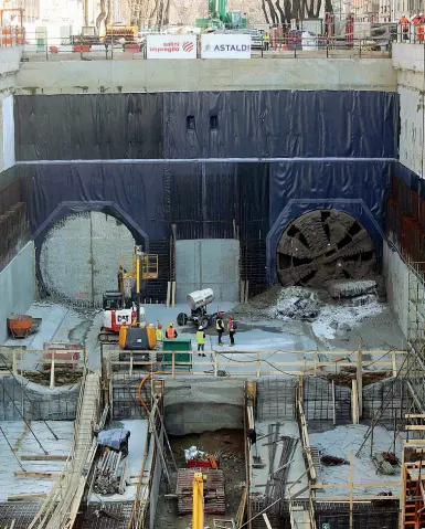
[[[171,435],[243,429],[244,381],[169,380],[164,424]]]

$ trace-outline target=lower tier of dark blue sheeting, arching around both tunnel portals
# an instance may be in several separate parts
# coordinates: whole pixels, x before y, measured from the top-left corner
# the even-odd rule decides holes
[[[275,283],[283,231],[315,209],[353,215],[380,254],[392,163],[73,163],[18,170],[36,248],[52,224],[70,213],[104,211],[147,250],[149,240],[169,240],[172,224],[178,239],[267,239],[264,277]]]

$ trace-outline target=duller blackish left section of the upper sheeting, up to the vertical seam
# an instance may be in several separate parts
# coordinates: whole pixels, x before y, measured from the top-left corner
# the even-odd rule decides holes
[[[161,94],[15,96],[17,161],[162,157]]]

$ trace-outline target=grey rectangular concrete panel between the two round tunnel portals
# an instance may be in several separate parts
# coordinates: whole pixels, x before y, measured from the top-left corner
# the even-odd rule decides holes
[[[185,303],[193,290],[212,288],[212,303],[237,301],[240,285],[240,242],[226,239],[177,241],[177,300]]]

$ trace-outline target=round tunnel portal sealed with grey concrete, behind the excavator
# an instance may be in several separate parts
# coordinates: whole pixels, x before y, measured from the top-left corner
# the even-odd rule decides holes
[[[40,252],[44,288],[63,301],[102,304],[106,290],[118,289],[123,255],[131,255],[135,239],[115,216],[84,211],[57,221]]]

